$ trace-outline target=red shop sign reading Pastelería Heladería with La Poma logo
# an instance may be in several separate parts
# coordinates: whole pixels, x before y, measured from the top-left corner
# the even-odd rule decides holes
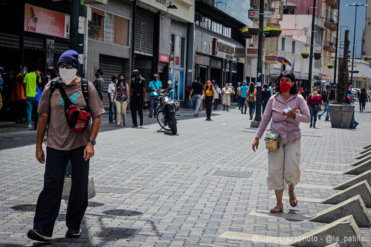
[[[25,4],[24,31],[69,39],[70,16]]]

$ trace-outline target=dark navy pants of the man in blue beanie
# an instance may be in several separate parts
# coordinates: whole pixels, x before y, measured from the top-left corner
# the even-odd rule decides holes
[[[33,228],[41,228],[52,236],[62,199],[65,170],[72,164],[72,185],[68,199],[66,226],[79,229],[88,207],[89,160],[84,160],[85,146],[72,150],[46,147],[44,188],[37,199]]]

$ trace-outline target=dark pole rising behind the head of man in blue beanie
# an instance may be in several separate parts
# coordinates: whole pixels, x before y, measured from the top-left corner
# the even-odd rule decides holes
[[[84,19],[85,19],[85,0],[71,0],[70,15],[70,38],[69,49],[84,53]],[[77,74],[83,77],[83,65],[80,61],[80,67]]]

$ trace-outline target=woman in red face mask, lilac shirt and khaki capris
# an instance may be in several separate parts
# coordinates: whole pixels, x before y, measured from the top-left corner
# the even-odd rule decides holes
[[[279,75],[276,92],[277,94],[268,100],[253,142],[253,151],[255,152],[255,148],[257,149],[259,146],[259,139],[262,138],[272,119],[267,137],[279,135],[280,142],[272,143],[269,147],[274,147],[273,150],[268,150],[268,190],[275,190],[277,199],[277,205],[270,210],[270,213],[283,211],[284,188],[288,188],[290,206],[296,207],[298,205],[294,187],[300,180],[301,130],[299,123],[309,123],[310,120],[308,107],[304,98],[298,94],[295,75],[292,71],[285,70]],[[283,110],[289,106],[295,108],[285,113]],[[294,110],[297,109],[301,113],[295,113]]]

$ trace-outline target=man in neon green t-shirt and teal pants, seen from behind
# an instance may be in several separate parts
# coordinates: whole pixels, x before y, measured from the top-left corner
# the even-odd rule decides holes
[[[37,64],[32,65],[31,72],[24,76],[23,83],[26,83],[26,106],[27,106],[27,127],[32,128],[32,107],[36,94],[36,78],[41,82]]]

